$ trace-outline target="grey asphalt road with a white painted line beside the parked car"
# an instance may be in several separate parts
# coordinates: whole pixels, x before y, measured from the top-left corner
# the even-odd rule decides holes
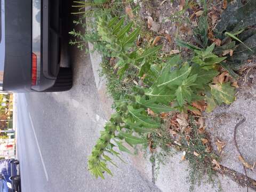
[[[158,191],[127,164],[93,179],[86,157],[105,122],[89,56],[73,47],[74,86],[68,92],[18,93],[17,130],[23,192]]]

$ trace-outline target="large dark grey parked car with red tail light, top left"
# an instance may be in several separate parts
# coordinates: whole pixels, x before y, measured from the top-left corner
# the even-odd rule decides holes
[[[69,90],[73,76],[67,67],[68,29],[63,25],[68,0],[0,2],[0,88],[7,92]]]

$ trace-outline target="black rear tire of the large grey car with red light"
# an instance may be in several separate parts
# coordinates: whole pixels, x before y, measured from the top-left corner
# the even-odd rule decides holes
[[[73,73],[71,68],[60,67],[55,84],[46,92],[68,91],[73,85]]]

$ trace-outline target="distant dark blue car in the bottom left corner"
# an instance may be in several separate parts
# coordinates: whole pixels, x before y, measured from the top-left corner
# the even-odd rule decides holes
[[[18,160],[0,160],[0,192],[20,192],[21,182],[18,175]]]

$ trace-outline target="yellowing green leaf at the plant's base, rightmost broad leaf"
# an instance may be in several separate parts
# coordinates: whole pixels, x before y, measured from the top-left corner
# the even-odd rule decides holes
[[[217,101],[218,105],[222,102],[226,104],[231,104],[235,101],[235,87],[230,85],[230,82],[223,84],[211,85],[211,94],[213,98]]]

